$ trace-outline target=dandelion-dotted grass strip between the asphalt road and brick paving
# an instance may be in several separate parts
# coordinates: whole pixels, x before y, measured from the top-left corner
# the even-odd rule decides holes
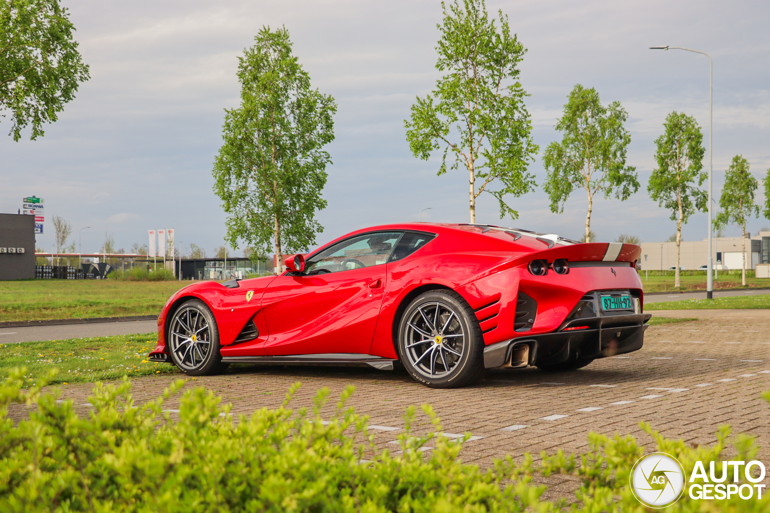
[[[52,368],[59,374],[51,382],[59,385],[179,372],[173,365],[147,360],[156,343],[157,334],[146,333],[0,345],[0,380],[14,367],[27,368],[26,386]]]

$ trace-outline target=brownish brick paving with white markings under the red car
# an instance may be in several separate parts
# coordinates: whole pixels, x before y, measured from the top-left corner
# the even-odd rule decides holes
[[[302,381],[303,388],[295,407],[312,405],[321,387],[329,387],[333,398],[346,385],[355,385],[350,405],[370,416],[371,432],[389,448],[397,448],[388,443],[401,432],[404,409],[430,403],[447,433],[470,431],[482,437],[466,443],[462,458],[483,466],[507,453],[517,457],[557,448],[585,451],[588,431],[631,433],[647,444],[650,438],[639,430],[640,421],[694,444],[715,441],[718,426],[729,423],[734,432],[757,436],[762,446],[758,459],[770,460],[770,405],[760,397],[770,389],[770,310],[654,315],[698,317],[698,321],[653,326],[641,351],[594,361],[579,371],[494,371],[469,388],[425,388],[399,372],[302,367],[239,368],[197,378],[189,385],[212,389],[232,402],[237,413],[280,405],[296,381]],[[170,379],[169,375],[134,379],[135,398],[155,397]],[[85,402],[89,391],[89,385],[62,388],[63,396],[74,398],[76,404]],[[330,400],[326,410],[332,411],[334,403]],[[426,428],[423,423],[417,431]]]

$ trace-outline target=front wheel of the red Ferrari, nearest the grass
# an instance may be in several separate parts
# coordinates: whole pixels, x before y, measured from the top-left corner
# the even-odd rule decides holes
[[[169,321],[167,344],[171,360],[188,376],[219,374],[228,366],[219,353],[216,319],[199,299],[176,308]]]

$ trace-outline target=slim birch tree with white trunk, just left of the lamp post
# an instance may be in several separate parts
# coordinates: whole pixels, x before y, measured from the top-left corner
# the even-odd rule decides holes
[[[665,132],[655,139],[658,150],[654,169],[647,185],[650,198],[662,208],[671,211],[671,221],[676,221],[676,270],[674,286],[681,287],[679,262],[681,257],[681,225],[686,224],[696,210],[708,210],[707,192],[695,187],[708,177],[703,172],[701,145],[703,134],[695,118],[684,112],[671,112],[663,124]]]

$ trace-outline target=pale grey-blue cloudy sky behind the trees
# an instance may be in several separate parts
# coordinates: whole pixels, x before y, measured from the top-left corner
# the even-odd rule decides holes
[[[53,215],[72,222],[75,240],[79,228],[92,226],[82,232],[83,252],[96,251],[105,233],[118,248],[146,244],[151,228],[176,228],[185,248],[192,242],[209,255],[223,243],[212,162],[223,109],[239,101],[236,57],[263,25],[289,29],[313,87],[338,104],[319,244],[368,225],[416,221],[428,207],[423,221],[468,221],[467,173],[437,176],[438,160],[413,158],[404,137],[410,105],[438,77],[440,2],[62,3],[91,80],[35,142],[28,132],[13,142],[0,118],[0,212],[17,212],[27,195],[45,198],[45,234],[37,240],[46,250]],[[770,168],[770,3],[490,0],[487,7],[509,16],[528,49],[521,82],[541,146],[531,165],[538,184],[542,152],[559,139],[553,126],[576,83],[628,110],[627,163],[636,166],[642,187],[627,202],[594,202],[592,228],[601,241],[628,233],[655,242],[675,232],[668,212],[646,192],[654,138],[668,112],[695,115],[708,138],[708,59],[649,46],[685,46],[714,59],[715,198],[734,155],[748,158],[756,178]],[[500,220],[494,198],[482,195],[477,222],[567,238],[583,232],[584,192],[574,192],[561,215],[550,212],[541,188],[508,199],[520,218]],[[755,219],[749,229],[764,225],[770,221]],[[705,215],[694,215],[685,240],[706,235]]]

